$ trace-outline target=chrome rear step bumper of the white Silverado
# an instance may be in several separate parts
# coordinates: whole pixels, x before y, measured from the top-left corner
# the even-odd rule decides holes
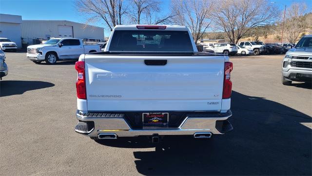
[[[107,115],[79,114],[76,117],[79,120],[75,131],[86,136],[95,137],[102,133],[115,134],[116,137],[132,137],[140,135],[194,135],[197,134],[223,134],[233,130],[228,118],[232,116],[231,110],[226,113],[218,113],[217,115],[188,115],[178,128],[157,128],[153,129],[131,129],[130,125],[123,118],[122,114],[112,116]],[[104,113],[103,113],[104,114]],[[83,125],[86,127],[83,128]],[[85,131],[83,131],[85,129]],[[208,137],[208,136],[207,136]],[[209,136],[210,137],[210,136]]]

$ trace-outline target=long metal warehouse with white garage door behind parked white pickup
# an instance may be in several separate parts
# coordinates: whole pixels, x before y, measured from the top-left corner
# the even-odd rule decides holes
[[[104,28],[66,20],[23,20],[21,37],[23,42],[65,37],[104,40]]]

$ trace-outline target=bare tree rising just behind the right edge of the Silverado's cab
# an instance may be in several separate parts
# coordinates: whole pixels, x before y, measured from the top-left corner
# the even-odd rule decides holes
[[[202,38],[212,22],[213,1],[172,0],[173,23],[186,25],[192,32],[195,43]]]

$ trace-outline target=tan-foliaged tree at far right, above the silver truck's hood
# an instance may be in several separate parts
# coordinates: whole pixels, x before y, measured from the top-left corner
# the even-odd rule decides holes
[[[305,16],[306,10],[307,5],[305,3],[292,3],[286,9],[284,36],[290,43],[295,43],[300,34],[309,27]]]

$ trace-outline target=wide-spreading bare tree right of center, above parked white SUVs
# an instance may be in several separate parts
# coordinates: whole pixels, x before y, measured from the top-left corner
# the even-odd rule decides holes
[[[218,0],[215,26],[236,44],[252,28],[273,23],[279,11],[267,0]]]

